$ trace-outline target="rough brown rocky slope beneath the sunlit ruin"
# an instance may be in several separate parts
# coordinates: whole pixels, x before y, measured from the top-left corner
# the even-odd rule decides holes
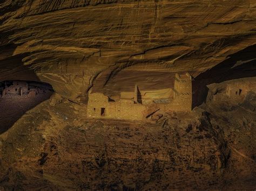
[[[256,115],[244,104],[207,102],[134,123],[86,119],[83,106],[50,102],[1,135],[4,188],[255,188]]]

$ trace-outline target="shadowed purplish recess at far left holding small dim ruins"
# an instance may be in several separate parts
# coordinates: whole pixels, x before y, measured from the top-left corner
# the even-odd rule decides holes
[[[0,134],[10,129],[26,111],[48,100],[52,93],[48,83],[17,80],[0,82]]]

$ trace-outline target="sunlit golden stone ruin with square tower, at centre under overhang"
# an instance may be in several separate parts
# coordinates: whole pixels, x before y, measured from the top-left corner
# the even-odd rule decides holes
[[[192,76],[176,74],[174,89],[122,92],[118,101],[102,93],[89,94],[87,117],[144,120],[157,110],[191,111]],[[153,108],[153,109],[152,109]]]

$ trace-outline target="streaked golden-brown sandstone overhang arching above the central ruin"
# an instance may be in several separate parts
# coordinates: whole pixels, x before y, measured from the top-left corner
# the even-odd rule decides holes
[[[73,101],[92,86],[105,93],[127,81],[168,87],[163,72],[196,77],[255,44],[249,0],[0,3],[0,80],[48,82]],[[122,72],[129,77],[114,79]]]

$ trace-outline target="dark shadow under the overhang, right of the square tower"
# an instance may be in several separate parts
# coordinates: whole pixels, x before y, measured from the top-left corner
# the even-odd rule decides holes
[[[192,81],[192,109],[203,104],[208,94],[207,85],[256,76],[256,45],[230,55],[230,58],[206,70]],[[254,60],[255,59],[255,60]]]

